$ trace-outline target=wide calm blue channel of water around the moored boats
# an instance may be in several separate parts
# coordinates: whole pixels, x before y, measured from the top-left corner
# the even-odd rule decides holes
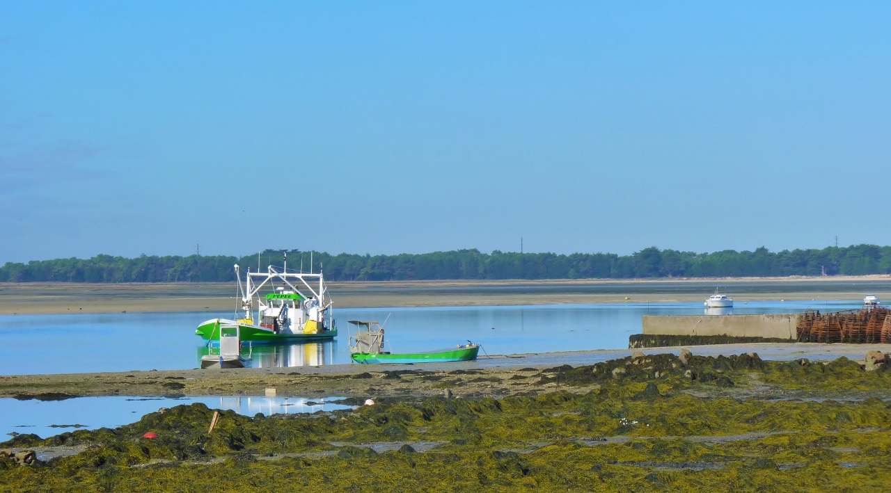
[[[733,313],[794,313],[859,308],[861,300],[737,303]],[[694,315],[702,303],[615,303],[343,309],[331,343],[253,346],[254,367],[349,363],[347,320],[386,323],[387,349],[421,352],[468,340],[490,354],[628,347],[643,315]],[[231,313],[168,312],[0,316],[0,375],[198,368],[194,329]],[[206,351],[206,350],[205,350]],[[2,416],[2,415],[0,415]]]

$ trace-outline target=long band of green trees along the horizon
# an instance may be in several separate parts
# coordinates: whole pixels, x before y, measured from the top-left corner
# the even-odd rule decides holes
[[[5,263],[6,282],[208,282],[235,279],[242,271],[281,270],[284,252],[266,250],[241,258],[225,255],[127,258],[96,255],[90,259],[55,259]],[[633,279],[676,277],[819,276],[891,273],[891,247],[856,245],[822,250],[771,252],[723,250],[708,254],[644,248],[632,255],[519,254],[476,249],[400,255],[330,255],[290,250],[288,271],[319,271],[329,280],[424,279]],[[310,258],[312,257],[312,261]],[[312,265],[310,265],[312,262]]]

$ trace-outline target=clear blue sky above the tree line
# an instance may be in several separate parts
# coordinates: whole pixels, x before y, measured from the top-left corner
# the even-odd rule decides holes
[[[888,2],[0,0],[0,263],[891,244]]]

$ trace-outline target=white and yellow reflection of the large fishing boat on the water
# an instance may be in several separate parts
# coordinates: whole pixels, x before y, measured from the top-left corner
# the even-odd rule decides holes
[[[199,346],[198,360],[211,351],[208,346]],[[334,354],[337,352],[335,341],[323,343],[302,344],[242,344],[241,354],[247,357],[250,354],[250,362],[246,368],[295,368],[295,367],[320,367],[334,364]]]

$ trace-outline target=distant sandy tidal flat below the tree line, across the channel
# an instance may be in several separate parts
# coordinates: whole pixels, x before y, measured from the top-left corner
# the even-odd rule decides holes
[[[339,308],[702,301],[721,287],[740,302],[891,298],[889,276],[331,282]],[[0,283],[0,314],[230,311],[234,283]]]

